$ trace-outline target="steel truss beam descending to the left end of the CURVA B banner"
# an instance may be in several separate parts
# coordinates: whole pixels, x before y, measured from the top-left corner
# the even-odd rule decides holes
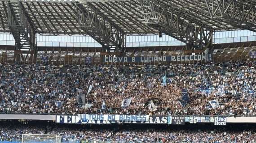
[[[99,17],[93,5],[77,4],[79,25],[85,33],[102,45],[105,51],[121,52],[124,50],[125,34],[122,29]]]

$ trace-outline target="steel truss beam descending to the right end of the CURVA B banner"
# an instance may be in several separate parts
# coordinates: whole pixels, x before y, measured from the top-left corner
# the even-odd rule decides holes
[[[170,12],[155,0],[142,0],[144,23],[187,44],[202,48],[210,42],[210,31],[180,15]]]

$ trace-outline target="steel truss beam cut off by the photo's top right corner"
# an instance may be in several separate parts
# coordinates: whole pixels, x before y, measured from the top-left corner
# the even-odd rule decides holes
[[[256,32],[256,7],[253,1],[204,0],[204,3],[208,17]]]

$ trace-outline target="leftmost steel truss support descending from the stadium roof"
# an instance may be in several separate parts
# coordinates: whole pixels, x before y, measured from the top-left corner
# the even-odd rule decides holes
[[[11,33],[13,34],[13,38],[15,39],[15,50],[29,50],[34,54],[30,56],[36,55],[36,45],[35,45],[35,29],[32,25],[30,17],[27,16],[26,11],[24,10],[21,2],[18,0],[11,0],[8,3],[8,25]],[[17,52],[22,54],[22,52]],[[20,56],[17,56],[20,57]],[[23,57],[23,55],[21,55]],[[15,59],[15,57],[14,57]],[[32,60],[34,58],[22,58],[23,60]],[[20,59],[17,59],[20,61]],[[23,61],[23,62],[26,62]]]

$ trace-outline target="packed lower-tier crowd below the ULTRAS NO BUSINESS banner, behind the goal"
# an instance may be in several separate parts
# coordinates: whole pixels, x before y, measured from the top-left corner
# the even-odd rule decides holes
[[[95,143],[95,141],[108,141],[107,143],[255,143],[254,130],[187,130],[187,129],[70,129],[39,127],[1,127],[0,141],[20,141],[22,134],[59,135],[62,143]],[[36,139],[37,136],[35,136]],[[23,138],[33,141],[34,138]],[[45,139],[46,140],[46,139]],[[40,142],[39,142],[40,143]]]

